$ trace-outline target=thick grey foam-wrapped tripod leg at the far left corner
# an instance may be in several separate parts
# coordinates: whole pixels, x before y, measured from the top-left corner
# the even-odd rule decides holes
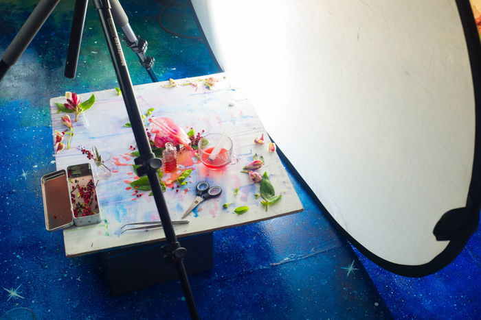
[[[32,11],[27,21],[25,21],[20,28],[19,33],[16,34],[1,57],[0,81],[8,69],[10,69],[10,66],[13,66],[16,60],[19,60],[23,51],[30,45],[30,42],[52,13],[58,1],[60,0],[41,0],[38,5],[36,5],[34,11]]]

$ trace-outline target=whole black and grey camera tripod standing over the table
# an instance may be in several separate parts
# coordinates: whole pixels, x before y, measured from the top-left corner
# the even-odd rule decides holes
[[[12,66],[21,56],[23,51],[25,51],[38,32],[38,29],[41,28],[58,2],[59,0],[41,0],[38,3],[25,24],[21,27],[19,33],[15,36],[12,43],[5,50],[5,53],[0,60],[0,81],[10,66]],[[155,155],[150,148],[150,143],[148,142],[148,137],[144,130],[144,123],[137,106],[137,100],[135,99],[131,77],[128,73],[124,53],[122,52],[122,47],[120,45],[120,40],[118,38],[113,19],[118,21],[120,25],[123,25],[122,29],[124,29],[124,27],[127,29],[126,38],[128,40],[129,47],[133,47],[133,49],[135,48],[134,51],[137,53],[137,56],[139,56],[141,64],[145,64],[144,67],[146,67],[146,69],[147,66],[150,66],[150,68],[147,70],[151,71],[153,59],[144,56],[146,43],[143,45],[139,40],[137,40],[137,42],[134,41],[136,40],[135,34],[133,34],[131,31],[131,27],[128,26],[128,19],[118,0],[94,0],[93,2],[98,10],[102,29],[104,31],[107,46],[109,47],[113,62],[113,68],[115,69],[115,74],[117,75],[120,90],[122,90],[122,98],[124,99],[128,119],[132,126],[135,142],[137,143],[139,157],[135,158],[134,162],[135,164],[141,166],[137,169],[137,175],[147,175],[148,177],[148,182],[150,183],[153,197],[155,199],[155,206],[157,207],[157,212],[159,212],[159,217],[168,243],[162,247],[166,253],[165,258],[170,262],[174,262],[175,264],[177,274],[186,297],[186,302],[188,304],[190,317],[192,317],[192,319],[199,319],[194,297],[192,295],[190,284],[187,278],[186,269],[183,265],[183,258],[186,256],[187,250],[181,247],[180,243],[177,241],[177,236],[175,235],[172,221],[170,221],[168,208],[164,199],[164,195],[161,191],[159,177],[157,175],[157,169],[161,167],[162,162],[160,159],[155,158]],[[85,14],[87,12],[87,3],[88,0],[76,0],[69,42],[69,53],[67,57],[67,64],[65,66],[65,75],[67,77],[75,77],[78,53],[80,51],[80,42],[82,40],[82,29],[85,22]],[[113,12],[115,12],[115,14],[113,14]],[[153,74],[153,71],[151,72]]]

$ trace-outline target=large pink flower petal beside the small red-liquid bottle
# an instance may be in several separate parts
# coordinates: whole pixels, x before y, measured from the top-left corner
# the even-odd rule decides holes
[[[150,132],[155,134],[153,140],[155,147],[163,148],[166,143],[172,143],[172,145],[183,145],[186,149],[192,150],[188,135],[172,119],[153,116],[148,121],[150,121]]]

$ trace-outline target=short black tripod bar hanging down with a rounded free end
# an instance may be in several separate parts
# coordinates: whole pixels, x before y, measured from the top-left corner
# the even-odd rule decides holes
[[[78,54],[80,53],[80,43],[84,31],[85,14],[87,14],[87,4],[89,0],[76,0],[74,18],[70,29],[69,51],[65,61],[65,77],[74,79],[77,71]]]

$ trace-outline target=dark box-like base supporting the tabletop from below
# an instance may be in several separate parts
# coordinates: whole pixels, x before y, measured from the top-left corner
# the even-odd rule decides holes
[[[107,275],[112,295],[122,295],[177,279],[175,264],[167,263],[163,258],[163,245],[166,243],[137,245],[101,253],[102,268]],[[212,232],[182,238],[182,247],[189,252],[183,259],[189,275],[214,268]]]

